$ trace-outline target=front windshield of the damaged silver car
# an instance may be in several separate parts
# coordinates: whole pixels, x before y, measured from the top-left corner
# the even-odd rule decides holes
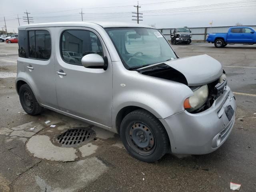
[[[176,59],[162,34],[151,28],[107,28],[124,66],[128,69]]]

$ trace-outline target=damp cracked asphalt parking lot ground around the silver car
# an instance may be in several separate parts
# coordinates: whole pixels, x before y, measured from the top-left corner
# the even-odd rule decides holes
[[[17,48],[0,43],[0,192],[226,192],[230,182],[242,184],[241,192],[256,191],[256,97],[246,95],[256,94],[256,45],[173,46],[181,57],[208,54],[219,60],[228,85],[239,93],[238,110],[230,137],[215,152],[166,154],[156,163],[132,158],[119,135],[79,120],[50,110],[38,116],[18,113],[24,111],[14,84]],[[74,148],[52,143],[76,127],[92,128],[96,140]]]

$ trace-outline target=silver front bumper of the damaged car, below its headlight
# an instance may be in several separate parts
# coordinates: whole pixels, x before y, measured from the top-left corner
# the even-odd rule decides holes
[[[230,121],[224,110],[229,105],[234,110]],[[235,116],[236,100],[226,86],[224,93],[204,112],[191,114],[184,110],[160,121],[168,133],[172,153],[207,154],[226,141],[234,126]]]

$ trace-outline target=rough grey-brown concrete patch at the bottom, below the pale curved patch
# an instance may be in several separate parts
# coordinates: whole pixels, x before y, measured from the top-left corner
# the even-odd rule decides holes
[[[18,192],[78,192],[104,174],[108,167],[92,157],[77,162],[41,162],[14,183]]]

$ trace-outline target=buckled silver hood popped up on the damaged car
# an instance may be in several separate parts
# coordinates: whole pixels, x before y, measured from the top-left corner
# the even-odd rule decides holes
[[[220,78],[223,73],[220,62],[206,54],[170,60],[165,64],[181,72],[188,86],[208,84]]]

